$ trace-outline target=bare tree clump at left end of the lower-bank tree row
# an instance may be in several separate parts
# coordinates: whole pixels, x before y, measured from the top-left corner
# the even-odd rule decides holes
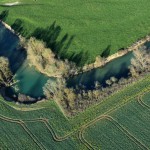
[[[47,99],[54,99],[65,110],[74,109],[77,94],[73,88],[67,88],[65,79],[57,78],[55,82],[48,80],[43,92]]]

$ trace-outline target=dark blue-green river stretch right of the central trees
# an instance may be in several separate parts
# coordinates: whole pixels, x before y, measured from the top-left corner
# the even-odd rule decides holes
[[[98,81],[102,86],[106,86],[106,80],[110,77],[127,77],[129,73],[130,60],[133,57],[132,52],[116,58],[107,63],[104,67],[93,69],[87,73],[79,74],[68,80],[69,87],[76,85],[84,85],[86,89],[93,89],[95,81]]]

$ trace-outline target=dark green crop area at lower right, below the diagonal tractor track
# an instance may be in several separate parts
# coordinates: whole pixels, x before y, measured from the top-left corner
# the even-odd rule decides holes
[[[149,95],[150,91],[147,94]],[[84,130],[83,140],[95,149],[148,150],[150,148],[150,109],[141,104],[138,99],[139,97],[117,111],[99,118],[97,122]],[[140,99],[144,100],[145,95],[140,95]]]

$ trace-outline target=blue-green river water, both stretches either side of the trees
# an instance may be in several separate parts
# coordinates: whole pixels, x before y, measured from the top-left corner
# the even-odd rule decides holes
[[[146,43],[149,47],[150,44]],[[19,46],[19,38],[11,31],[6,29],[0,23],[0,56],[5,56],[9,59],[10,68],[15,74],[18,91],[14,93],[22,93],[34,98],[43,96],[42,87],[48,79],[54,81],[54,78],[49,78],[44,74],[36,71],[31,67],[27,60],[26,50]],[[110,77],[116,78],[127,77],[129,73],[130,60],[133,57],[132,52],[117,58],[104,67],[93,69],[89,72],[79,74],[67,80],[68,87],[75,87],[76,85],[84,85],[86,89],[92,89],[94,82],[99,81],[101,85],[105,86],[105,81]]]

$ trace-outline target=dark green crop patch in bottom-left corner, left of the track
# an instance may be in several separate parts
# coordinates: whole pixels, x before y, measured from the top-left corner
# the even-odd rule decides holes
[[[1,119],[1,118],[0,118]],[[21,136],[20,136],[21,135]],[[38,149],[28,129],[19,122],[0,120],[0,149]]]

